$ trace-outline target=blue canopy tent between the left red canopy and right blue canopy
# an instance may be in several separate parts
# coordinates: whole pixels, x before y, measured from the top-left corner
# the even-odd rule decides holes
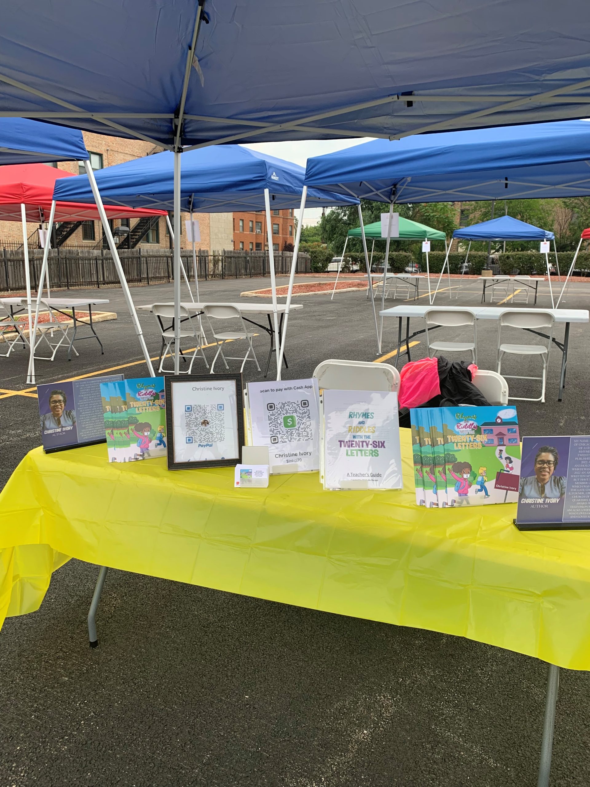
[[[183,153],[183,170],[179,184],[179,205],[184,212],[230,212],[264,210],[267,217],[267,242],[271,269],[272,305],[274,307],[277,363],[279,360],[277,295],[272,243],[271,206],[273,209],[297,208],[304,191],[305,170],[298,164],[258,153],[240,145],[220,145]],[[116,164],[95,174],[105,205],[130,205],[133,208],[175,208],[174,155],[168,151]],[[67,183],[65,182],[67,180]],[[319,189],[305,190],[306,205],[358,205],[356,198],[330,194]],[[79,202],[90,199],[92,187],[87,176],[65,178],[56,183],[56,201]],[[302,216],[301,216],[302,217]],[[299,237],[301,217],[297,226]],[[194,254],[194,242],[193,242]],[[195,261],[195,279],[197,265]],[[289,282],[293,283],[297,256]],[[198,300],[198,282],[197,282]],[[283,336],[289,312],[285,314]],[[281,359],[282,360],[282,359]],[[280,379],[280,367],[278,367]]]

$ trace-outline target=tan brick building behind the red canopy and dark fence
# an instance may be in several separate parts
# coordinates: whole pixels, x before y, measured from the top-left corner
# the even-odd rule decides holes
[[[123,139],[121,137],[110,137],[101,134],[92,134],[90,131],[83,131],[84,142],[88,153],[90,153],[90,164],[94,170],[102,169],[103,167],[111,167],[113,164],[122,164],[124,161],[131,161],[135,158],[158,153],[161,148],[153,146],[149,142],[143,142],[141,139]],[[82,175],[84,173],[83,164],[77,161],[59,161],[55,164],[57,168],[63,169],[65,172],[72,172],[75,175]],[[189,214],[183,213],[182,221],[182,238],[181,246],[183,249],[190,248],[190,242],[186,240],[186,226],[185,220],[189,218]],[[199,221],[199,228],[201,230],[201,242],[196,243],[197,249],[206,249],[208,251],[217,251],[232,248],[232,223],[231,213],[194,213],[194,218]],[[124,224],[131,229],[135,226],[134,219],[115,219],[112,221],[112,228],[119,227]],[[39,228],[39,224],[28,222],[27,235],[31,238],[29,245],[36,245],[35,231]],[[100,248],[102,238],[102,227],[100,221],[85,221],[63,242],[64,246],[76,246],[77,248],[93,247]],[[20,222],[17,221],[0,221],[0,248],[3,243],[9,244],[13,247],[15,244],[22,243],[23,234]],[[170,246],[170,238],[168,235],[168,227],[166,220],[163,217],[157,224],[149,230],[147,235],[142,238],[138,246],[149,249],[149,247]]]

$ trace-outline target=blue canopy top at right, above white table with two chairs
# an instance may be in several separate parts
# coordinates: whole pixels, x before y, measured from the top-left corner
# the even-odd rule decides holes
[[[389,203],[390,211],[407,202],[584,196],[588,150],[585,120],[376,139],[310,158],[305,183]],[[555,239],[554,252],[557,259]]]

